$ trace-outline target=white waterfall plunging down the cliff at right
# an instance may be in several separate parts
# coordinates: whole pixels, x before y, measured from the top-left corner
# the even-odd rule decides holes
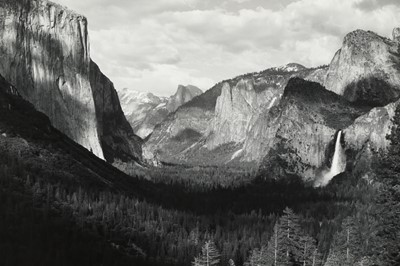
[[[329,170],[322,171],[321,178],[319,178],[315,183],[316,187],[324,187],[328,185],[334,176],[345,171],[346,155],[340,143],[341,137],[342,131],[339,131],[336,136],[335,152],[333,154],[331,168]]]

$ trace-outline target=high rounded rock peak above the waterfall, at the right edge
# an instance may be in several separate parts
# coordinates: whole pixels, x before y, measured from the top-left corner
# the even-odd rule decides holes
[[[325,85],[352,102],[383,106],[400,95],[398,30],[390,40],[373,32],[349,33],[335,54]]]

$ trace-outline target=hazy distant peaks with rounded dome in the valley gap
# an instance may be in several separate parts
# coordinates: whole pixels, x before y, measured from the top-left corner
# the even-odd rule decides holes
[[[176,93],[169,98],[126,88],[120,91],[119,95],[124,113],[135,134],[144,139],[168,114],[175,112],[181,105],[201,93],[202,91],[195,86],[179,85]]]

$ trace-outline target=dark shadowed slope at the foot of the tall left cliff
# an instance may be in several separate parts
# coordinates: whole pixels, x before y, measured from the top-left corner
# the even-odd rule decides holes
[[[118,171],[54,128],[50,119],[1,75],[0,112],[0,153],[23,163],[32,178],[132,195],[151,191],[151,185],[140,185],[138,179]]]

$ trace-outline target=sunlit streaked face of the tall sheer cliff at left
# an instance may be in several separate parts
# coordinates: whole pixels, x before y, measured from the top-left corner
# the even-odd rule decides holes
[[[47,1],[22,0],[1,1],[0,17],[0,73],[56,128],[103,157],[86,19]]]

